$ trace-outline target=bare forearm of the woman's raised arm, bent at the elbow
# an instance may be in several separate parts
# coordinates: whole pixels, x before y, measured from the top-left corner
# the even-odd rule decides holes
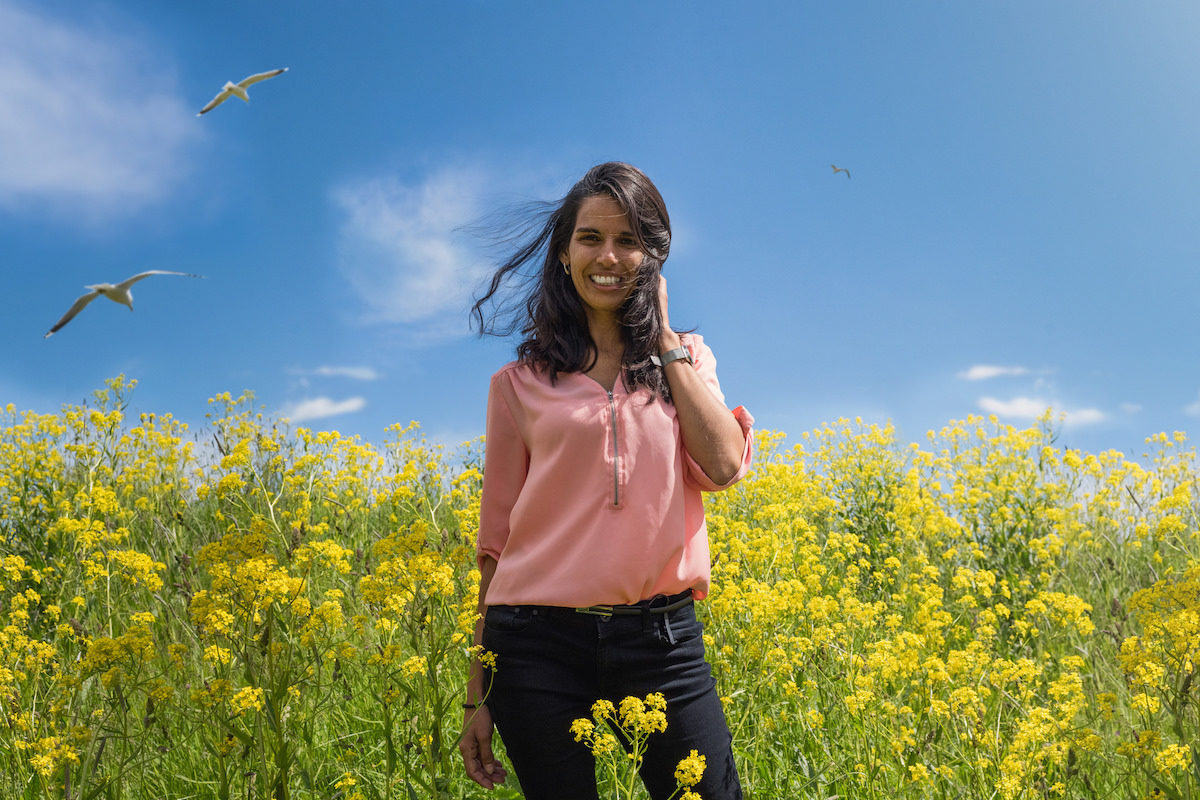
[[[679,335],[670,329],[659,342],[660,353],[682,347]],[[742,467],[745,450],[742,426],[686,360],[672,361],[662,369],[671,386],[684,447],[713,482],[727,483]]]

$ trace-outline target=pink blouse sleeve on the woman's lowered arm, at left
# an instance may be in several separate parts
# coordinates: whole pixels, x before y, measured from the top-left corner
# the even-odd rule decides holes
[[[529,471],[529,449],[512,414],[512,384],[508,371],[492,375],[487,391],[484,489],[479,510],[476,559],[499,560],[509,539],[509,518]]]

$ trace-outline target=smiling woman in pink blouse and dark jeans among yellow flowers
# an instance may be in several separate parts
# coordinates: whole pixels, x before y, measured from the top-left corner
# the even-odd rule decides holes
[[[708,591],[701,491],[746,471],[754,419],[730,411],[712,350],[670,327],[662,263],[671,223],[654,184],[594,167],[492,278],[540,259],[517,361],[492,375],[475,643],[460,745],[486,788],[505,778],[493,723],[528,800],[596,798],[590,752],[570,734],[596,699],[661,692],[667,729],[642,780],[676,789],[691,750],[706,800],[740,798],[728,726],[692,600]]]

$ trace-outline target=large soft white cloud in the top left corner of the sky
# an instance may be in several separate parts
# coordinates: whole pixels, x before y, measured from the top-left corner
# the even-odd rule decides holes
[[[0,0],[0,206],[96,221],[166,197],[199,136],[172,72],[128,35]]]

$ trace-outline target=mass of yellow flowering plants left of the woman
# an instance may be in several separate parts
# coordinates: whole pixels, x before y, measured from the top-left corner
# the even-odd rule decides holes
[[[214,397],[186,441],[131,414],[132,387],[0,414],[0,794],[125,796],[157,774],[265,796],[354,765],[434,796],[475,624],[478,470],[451,476],[415,425],[377,452],[248,393]],[[386,752],[343,739],[364,724]]]

